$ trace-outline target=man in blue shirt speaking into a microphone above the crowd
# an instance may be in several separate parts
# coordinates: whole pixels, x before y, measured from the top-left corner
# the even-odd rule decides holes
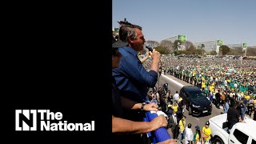
[[[112,72],[118,89],[126,98],[135,102],[146,102],[148,88],[154,87],[158,81],[161,54],[156,50],[149,52],[152,63],[150,71],[146,71],[137,57],[138,51],[143,50],[146,42],[142,27],[132,24],[122,25],[119,29],[119,38],[122,42],[128,42],[128,46],[119,47],[118,50],[122,54],[120,66]]]

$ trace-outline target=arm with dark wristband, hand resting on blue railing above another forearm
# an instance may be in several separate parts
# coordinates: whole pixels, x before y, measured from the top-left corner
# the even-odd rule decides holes
[[[142,103],[134,102],[125,97],[121,97],[122,107],[131,110],[139,110],[142,107]],[[154,102],[146,104],[143,108],[146,111],[158,111],[158,105]]]

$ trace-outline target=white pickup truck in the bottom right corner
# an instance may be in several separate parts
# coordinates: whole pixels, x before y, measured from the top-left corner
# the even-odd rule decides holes
[[[227,114],[220,114],[209,119],[211,142],[216,144],[256,144],[256,122],[254,120],[245,118],[245,123],[236,123],[228,133],[227,127],[222,129],[226,117]]]

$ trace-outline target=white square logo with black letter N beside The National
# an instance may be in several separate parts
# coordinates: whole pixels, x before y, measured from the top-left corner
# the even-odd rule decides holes
[[[15,130],[37,130],[37,110],[16,110]]]

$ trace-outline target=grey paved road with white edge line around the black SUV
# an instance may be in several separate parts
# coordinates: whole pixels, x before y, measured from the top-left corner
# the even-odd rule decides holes
[[[184,82],[178,78],[175,78],[171,75],[164,75],[162,74],[158,80],[157,86],[162,86],[164,82],[167,82],[169,84],[168,90],[174,95],[175,91],[182,88],[182,86],[191,86],[191,84]],[[216,106],[213,105],[212,114],[205,115],[205,116],[199,116],[195,117],[188,114],[188,111],[185,110],[184,115],[186,116],[186,126],[188,123],[192,124],[192,130],[193,133],[195,132],[194,126],[200,126],[200,129],[202,130],[202,127],[205,125],[205,123],[209,120],[209,118],[212,118],[218,114],[221,114],[223,112],[223,108],[217,109]],[[183,142],[185,143],[185,142]]]

